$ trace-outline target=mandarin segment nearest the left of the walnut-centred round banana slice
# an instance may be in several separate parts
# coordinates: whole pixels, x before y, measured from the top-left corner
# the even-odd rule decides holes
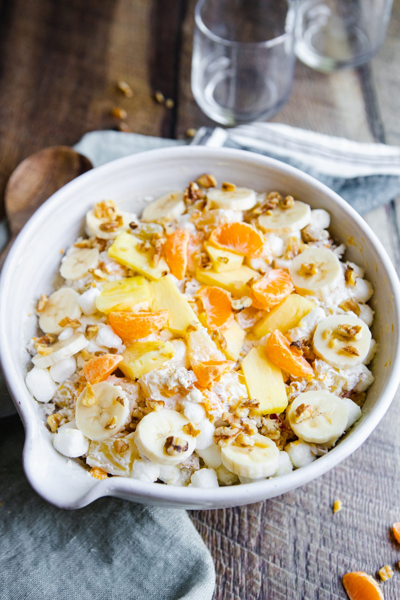
[[[283,269],[271,269],[264,277],[252,283],[252,306],[269,311],[292,292],[294,286],[290,275]]]

